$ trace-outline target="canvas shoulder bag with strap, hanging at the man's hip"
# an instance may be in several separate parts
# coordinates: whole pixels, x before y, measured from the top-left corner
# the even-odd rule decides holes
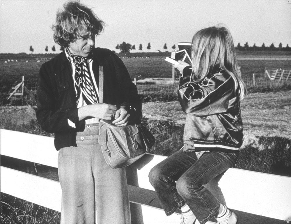
[[[99,66],[99,99],[103,102],[103,67]],[[154,145],[155,138],[142,123],[116,126],[99,121],[98,142],[106,163],[112,168],[125,167],[141,158]]]

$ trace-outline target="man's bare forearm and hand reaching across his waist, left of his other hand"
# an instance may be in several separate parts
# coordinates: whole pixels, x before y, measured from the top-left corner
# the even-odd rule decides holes
[[[78,110],[79,120],[87,117],[97,117],[111,120],[116,114],[116,106],[107,103],[97,103],[80,107]]]

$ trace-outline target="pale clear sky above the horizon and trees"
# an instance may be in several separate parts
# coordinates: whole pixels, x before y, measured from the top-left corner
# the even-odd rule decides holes
[[[65,0],[1,0],[0,52],[49,53],[54,43],[51,26]],[[151,50],[168,50],[178,42],[191,42],[199,29],[223,23],[235,45],[291,45],[291,0],[81,0],[106,23],[96,47],[116,50],[125,41],[131,45],[150,42]],[[137,50],[138,51],[138,50]],[[118,51],[117,51],[118,52]]]

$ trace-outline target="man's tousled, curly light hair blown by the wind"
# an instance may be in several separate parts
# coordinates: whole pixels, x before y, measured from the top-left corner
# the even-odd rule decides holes
[[[63,7],[56,14],[56,24],[52,27],[57,44],[68,47],[77,38],[89,38],[103,31],[104,22],[92,9],[78,1],[69,1]]]

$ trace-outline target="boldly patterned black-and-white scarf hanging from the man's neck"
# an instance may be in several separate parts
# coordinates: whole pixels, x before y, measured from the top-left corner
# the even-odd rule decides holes
[[[84,100],[87,105],[95,104],[99,102],[98,95],[93,87],[93,80],[88,70],[85,57],[73,54],[68,47],[65,47],[65,51],[68,54],[68,60],[72,61],[75,65],[75,89],[77,96],[77,104],[80,98],[81,92],[83,93]]]

